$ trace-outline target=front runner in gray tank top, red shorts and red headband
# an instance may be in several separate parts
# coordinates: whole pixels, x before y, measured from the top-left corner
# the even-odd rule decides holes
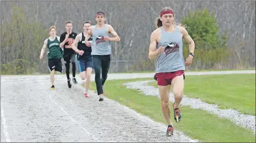
[[[162,112],[167,121],[167,135],[173,135],[173,123],[170,118],[169,91],[171,85],[175,103],[173,103],[173,116],[176,122],[181,120],[178,105],[183,97],[185,65],[192,63],[195,43],[184,27],[175,25],[175,14],[169,7],[160,12],[156,21],[157,29],[150,36],[149,59],[157,58],[156,74],[154,79],[158,82],[158,91],[161,98]],[[190,53],[184,61],[182,38],[189,43]]]

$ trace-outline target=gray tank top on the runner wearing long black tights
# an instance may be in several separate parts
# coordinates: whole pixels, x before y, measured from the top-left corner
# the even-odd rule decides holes
[[[107,25],[105,24],[103,28],[94,27],[94,32],[92,34],[92,52],[91,55],[108,55],[111,54],[110,41],[104,41],[103,36],[110,37],[107,32]]]

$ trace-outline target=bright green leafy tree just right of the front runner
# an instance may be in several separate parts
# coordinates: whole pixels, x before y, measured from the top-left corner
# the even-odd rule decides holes
[[[208,69],[227,57],[227,36],[219,34],[214,13],[208,9],[190,12],[188,17],[182,17],[182,25],[195,41],[195,59],[192,66],[197,69]],[[188,44],[184,43],[184,55],[188,55]]]

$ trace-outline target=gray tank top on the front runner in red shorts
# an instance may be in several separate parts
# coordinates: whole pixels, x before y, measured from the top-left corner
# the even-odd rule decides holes
[[[163,46],[165,50],[158,55],[156,73],[185,70],[182,37],[177,25],[173,32],[166,32],[162,27],[160,30],[161,39],[157,44],[157,49]]]

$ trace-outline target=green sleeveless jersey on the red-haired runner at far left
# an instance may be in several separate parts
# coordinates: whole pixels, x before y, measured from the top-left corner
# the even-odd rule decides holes
[[[48,47],[48,59],[53,58],[63,58],[63,50],[59,47],[60,42],[58,41],[58,38],[56,37],[53,41],[48,38],[47,41],[47,47]]]

